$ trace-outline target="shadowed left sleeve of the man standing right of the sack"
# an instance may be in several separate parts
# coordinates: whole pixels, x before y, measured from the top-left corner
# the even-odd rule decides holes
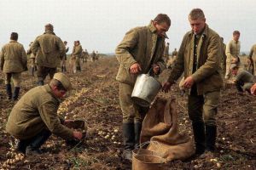
[[[180,48],[177,53],[177,59],[175,59],[173,63],[173,68],[168,78],[168,82],[175,82],[177,81],[178,77],[183,74],[184,71],[184,52],[186,48],[185,42],[187,41],[186,35],[183,37],[183,42],[180,45]]]

